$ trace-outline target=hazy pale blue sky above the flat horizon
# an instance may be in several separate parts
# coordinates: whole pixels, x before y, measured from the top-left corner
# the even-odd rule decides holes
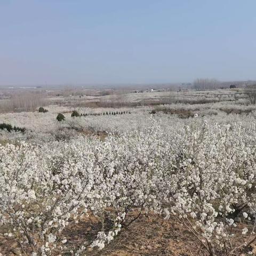
[[[0,0],[0,85],[256,79],[255,0]]]

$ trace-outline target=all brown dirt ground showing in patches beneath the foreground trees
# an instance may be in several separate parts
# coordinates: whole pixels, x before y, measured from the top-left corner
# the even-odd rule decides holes
[[[67,237],[68,247],[76,247],[81,243],[81,238],[98,229],[99,223],[91,217],[86,222],[77,226],[69,226],[63,236]],[[256,247],[251,247],[256,255]],[[0,256],[23,255],[18,249],[18,244],[13,241],[4,241],[0,236]],[[53,254],[55,256],[55,254]],[[60,255],[60,254],[56,254]],[[69,255],[69,254],[65,254]],[[164,220],[156,216],[146,217],[141,215],[129,227],[108,244],[103,250],[86,251],[86,256],[206,256],[209,255],[203,246],[175,219]],[[218,256],[223,254],[218,253]],[[246,256],[248,254],[236,254]]]

